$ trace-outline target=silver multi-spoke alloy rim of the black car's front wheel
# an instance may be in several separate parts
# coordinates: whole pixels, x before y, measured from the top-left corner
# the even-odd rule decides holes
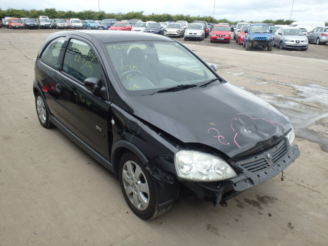
[[[149,185],[144,172],[136,162],[129,160],[124,163],[122,182],[133,206],[140,211],[145,211],[150,201]]]

